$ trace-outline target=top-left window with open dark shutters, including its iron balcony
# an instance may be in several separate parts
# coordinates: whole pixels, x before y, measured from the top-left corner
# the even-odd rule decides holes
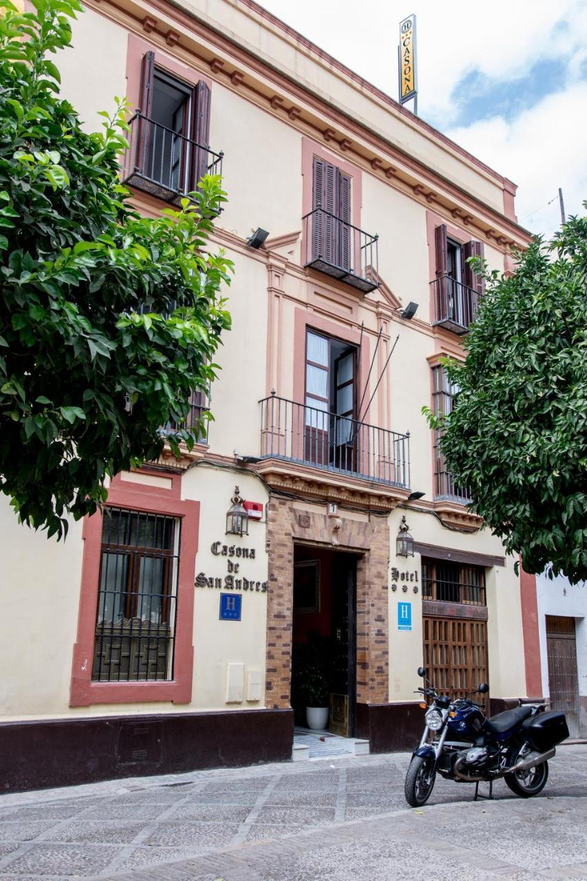
[[[179,203],[204,174],[221,174],[222,154],[210,149],[210,87],[189,85],[143,56],[139,110],[130,120],[123,180]]]

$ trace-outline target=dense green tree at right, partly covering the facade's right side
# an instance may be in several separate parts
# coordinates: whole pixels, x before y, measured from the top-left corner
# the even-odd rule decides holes
[[[576,583],[587,579],[587,218],[534,240],[509,278],[486,278],[466,359],[446,364],[453,411],[428,420],[507,551]]]

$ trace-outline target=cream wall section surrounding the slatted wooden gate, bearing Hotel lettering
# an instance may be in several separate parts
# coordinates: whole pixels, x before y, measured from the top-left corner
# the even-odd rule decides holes
[[[417,700],[414,689],[420,685],[416,670],[422,663],[422,584],[420,554],[414,557],[398,557],[395,539],[402,515],[417,542],[440,547],[466,550],[479,554],[502,556],[499,539],[488,529],[474,536],[445,529],[430,513],[398,508],[389,518],[390,522],[390,568],[400,572],[417,569],[419,590],[412,591],[412,582],[404,593],[401,585],[397,591],[390,590],[390,700]],[[514,560],[506,558],[505,566],[487,568],[487,652],[489,658],[489,684],[493,698],[518,698],[525,696],[524,638],[522,633],[522,609],[519,579],[514,572]],[[390,581],[391,583],[391,581]],[[412,633],[398,631],[398,603],[412,603]]]

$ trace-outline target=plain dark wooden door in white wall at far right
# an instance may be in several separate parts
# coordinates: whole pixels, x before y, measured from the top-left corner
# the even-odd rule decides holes
[[[551,707],[566,715],[570,737],[579,737],[575,618],[546,615],[546,655]]]

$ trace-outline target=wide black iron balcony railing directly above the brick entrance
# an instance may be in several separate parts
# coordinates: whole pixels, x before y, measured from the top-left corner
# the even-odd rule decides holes
[[[271,395],[261,404],[261,457],[336,471],[391,486],[410,485],[410,434]]]

